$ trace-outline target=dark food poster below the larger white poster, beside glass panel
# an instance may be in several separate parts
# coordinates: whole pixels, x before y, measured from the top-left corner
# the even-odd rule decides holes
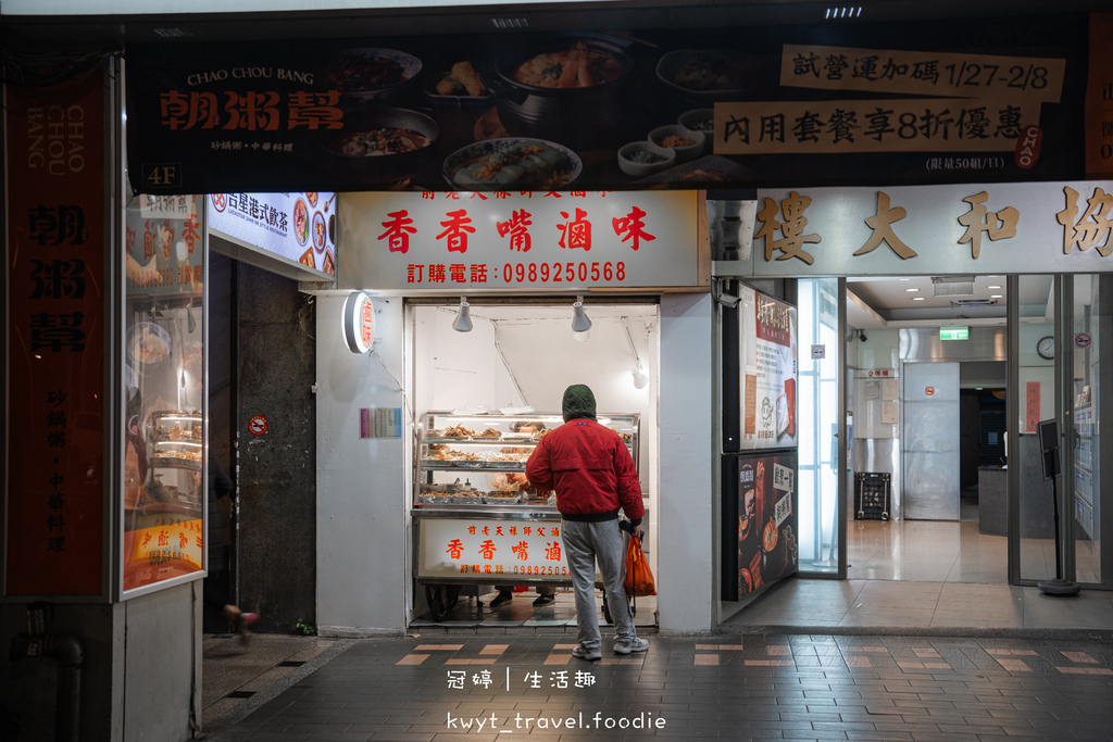
[[[738,596],[796,572],[796,454],[738,457]]]

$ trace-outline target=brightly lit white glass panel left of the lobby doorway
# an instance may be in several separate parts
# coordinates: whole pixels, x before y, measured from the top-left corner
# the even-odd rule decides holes
[[[846,477],[838,474],[847,466],[846,425],[839,425],[845,296],[844,279],[797,281],[799,570],[801,574],[839,578],[846,576],[844,520],[839,517],[845,511],[840,487]]]

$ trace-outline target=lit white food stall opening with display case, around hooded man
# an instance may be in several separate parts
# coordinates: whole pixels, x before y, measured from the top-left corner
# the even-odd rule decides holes
[[[469,297],[466,309],[457,301],[408,301],[407,387],[418,421],[411,625],[532,627],[574,620],[571,577],[559,547],[545,541],[561,526],[560,514],[550,493],[524,478],[536,441],[563,422],[561,400],[571,384],[592,388],[598,422],[631,449],[646,506],[642,543],[656,570],[659,306],[574,301]],[[475,534],[486,538],[480,547],[487,552],[464,557]],[[459,564],[449,564],[443,546],[431,551],[434,542],[453,540],[462,544]],[[598,588],[597,603],[608,622],[610,612],[626,609],[605,605]],[[638,598],[636,625],[656,625],[656,607],[654,597]]]

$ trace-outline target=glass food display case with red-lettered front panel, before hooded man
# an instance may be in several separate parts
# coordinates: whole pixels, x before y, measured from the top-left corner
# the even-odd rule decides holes
[[[640,415],[597,419],[622,436],[637,467]],[[413,563],[435,621],[466,585],[572,584],[555,498],[525,479],[538,442],[563,422],[559,414],[422,416]]]

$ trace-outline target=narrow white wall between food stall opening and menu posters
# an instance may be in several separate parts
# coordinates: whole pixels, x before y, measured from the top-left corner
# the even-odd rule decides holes
[[[712,472],[712,301],[661,297],[661,498],[658,611],[662,632],[712,629],[715,565]]]

